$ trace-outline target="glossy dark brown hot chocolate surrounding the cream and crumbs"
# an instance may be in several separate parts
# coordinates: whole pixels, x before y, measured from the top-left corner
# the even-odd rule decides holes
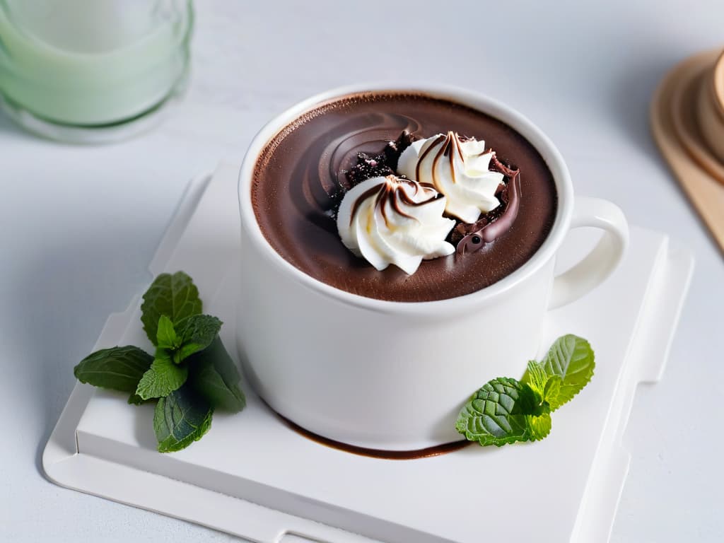
[[[340,172],[359,151],[379,153],[405,129],[418,138],[447,130],[474,136],[521,170],[520,209],[508,232],[476,253],[423,261],[413,275],[355,257],[329,214]],[[405,93],[350,95],[292,122],[261,152],[251,198],[266,240],[291,264],[332,287],[395,301],[454,298],[500,281],[542,245],[557,207],[550,169],[518,132],[481,111]]]

